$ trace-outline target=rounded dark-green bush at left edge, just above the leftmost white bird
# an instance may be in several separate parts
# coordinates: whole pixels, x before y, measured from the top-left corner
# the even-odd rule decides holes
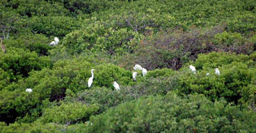
[[[51,67],[51,61],[48,57],[38,57],[36,52],[10,47],[6,54],[0,53],[0,67],[8,73],[7,80],[13,82],[28,77],[32,70]]]

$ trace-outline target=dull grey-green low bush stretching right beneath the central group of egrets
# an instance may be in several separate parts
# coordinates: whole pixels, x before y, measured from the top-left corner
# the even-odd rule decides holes
[[[98,113],[103,113],[110,107],[140,98],[143,95],[165,95],[172,90],[175,78],[147,78],[138,82],[134,86],[120,86],[120,91],[113,91],[108,88],[93,88],[72,95],[69,93],[65,100],[68,102],[82,102],[83,104],[97,104],[100,108]]]

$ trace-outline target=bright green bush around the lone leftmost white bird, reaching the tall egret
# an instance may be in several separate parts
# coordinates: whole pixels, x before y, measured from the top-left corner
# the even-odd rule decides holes
[[[10,120],[13,122],[17,117],[19,119],[26,117],[22,121],[33,121],[29,117],[38,118],[44,100],[60,100],[65,97],[66,88],[72,88],[72,86],[75,88],[73,91],[77,91],[81,87],[86,88],[83,84],[74,86],[72,79],[79,74],[82,68],[87,70],[86,66],[90,67],[90,65],[85,61],[83,63],[77,60],[58,61],[54,63],[53,70],[43,68],[41,71],[33,71],[29,73],[28,78],[20,79],[17,84],[4,86],[5,88],[0,96],[3,97],[0,104],[1,118],[3,118],[3,121]],[[89,74],[88,71],[88,76]],[[81,87],[79,88],[79,86]],[[32,88],[33,92],[25,92],[26,88]],[[8,97],[4,95],[8,95]]]

